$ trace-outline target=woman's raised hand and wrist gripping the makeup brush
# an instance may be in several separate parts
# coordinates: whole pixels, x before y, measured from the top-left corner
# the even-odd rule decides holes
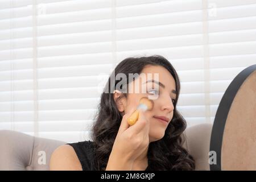
[[[139,110],[138,121],[130,126],[127,119],[135,109],[123,115],[106,170],[131,170],[133,162],[147,150],[149,144],[149,121]]]

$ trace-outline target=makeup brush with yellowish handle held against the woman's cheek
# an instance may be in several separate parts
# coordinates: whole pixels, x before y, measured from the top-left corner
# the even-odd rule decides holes
[[[148,100],[147,97],[142,97],[141,100],[139,101],[139,106],[137,109],[133,112],[133,114],[130,115],[128,118],[127,122],[128,124],[134,125],[138,118],[139,118],[139,109],[146,111],[146,110],[151,110],[154,106],[154,102],[152,100]]]

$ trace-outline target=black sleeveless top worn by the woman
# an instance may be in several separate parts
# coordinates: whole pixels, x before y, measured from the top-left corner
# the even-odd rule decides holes
[[[72,146],[76,152],[77,158],[79,158],[83,171],[95,171],[94,169],[94,142],[84,141],[77,143],[67,143]],[[148,160],[148,166],[145,171],[150,170],[150,160]]]

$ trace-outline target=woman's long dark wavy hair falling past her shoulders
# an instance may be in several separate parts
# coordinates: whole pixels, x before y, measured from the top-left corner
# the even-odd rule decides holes
[[[176,82],[176,101],[174,102],[174,115],[168,125],[164,137],[148,146],[148,169],[150,170],[194,170],[195,160],[182,147],[183,131],[187,123],[182,115],[176,110],[176,103],[180,94],[180,81],[171,63],[162,56],[129,57],[117,65],[101,94],[101,101],[98,105],[96,122],[92,128],[92,139],[94,141],[95,155],[94,168],[105,170],[109,155],[112,151],[115,137],[117,136],[122,114],[118,111],[113,98],[113,91],[118,83],[115,78],[118,73],[124,73],[127,78],[129,73],[142,72],[146,65],[160,65],[166,68],[174,77]],[[129,79],[127,79],[129,81]],[[128,84],[128,82],[127,82]],[[124,93],[125,97],[127,94]]]

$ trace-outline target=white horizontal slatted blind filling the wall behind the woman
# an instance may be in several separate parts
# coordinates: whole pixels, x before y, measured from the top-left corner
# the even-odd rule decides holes
[[[213,122],[256,64],[256,0],[0,1],[0,129],[89,139],[104,80],[128,56],[163,55],[188,126]]]

